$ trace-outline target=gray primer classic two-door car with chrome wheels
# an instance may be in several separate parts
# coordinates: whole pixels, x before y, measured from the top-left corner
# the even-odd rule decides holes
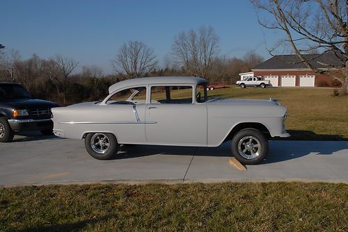
[[[164,101],[152,93],[158,86],[166,90]],[[189,88],[191,97],[171,99],[171,86]],[[88,153],[101,160],[117,154],[119,144],[217,147],[232,140],[232,154],[244,164],[264,159],[268,138],[290,136],[284,126],[287,109],[278,101],[209,99],[206,86],[205,79],[186,76],[120,81],[103,101],[52,109],[54,133],[84,138]],[[128,89],[134,90],[131,97],[111,101]],[[138,90],[145,92],[142,100],[136,99]]]

